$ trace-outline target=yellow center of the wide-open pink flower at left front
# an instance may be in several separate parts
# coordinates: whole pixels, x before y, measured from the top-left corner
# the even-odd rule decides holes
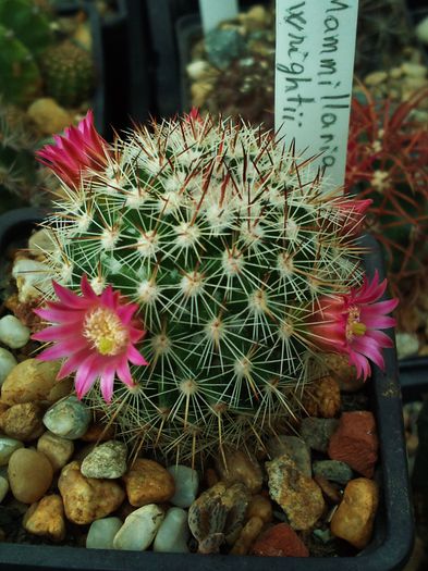
[[[119,355],[129,340],[126,327],[108,308],[97,308],[86,315],[83,335],[100,355]]]

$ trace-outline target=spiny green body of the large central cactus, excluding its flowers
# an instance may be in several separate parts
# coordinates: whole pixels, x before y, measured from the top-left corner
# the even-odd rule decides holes
[[[317,298],[362,277],[342,198],[297,163],[258,128],[184,117],[117,141],[58,202],[52,277],[77,289],[85,273],[140,306],[150,364],[110,404],[85,397],[135,446],[192,456],[297,409]]]

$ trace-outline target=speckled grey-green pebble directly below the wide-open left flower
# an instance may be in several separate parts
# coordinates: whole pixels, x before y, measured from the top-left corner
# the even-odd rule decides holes
[[[90,410],[74,395],[56,402],[44,417],[45,426],[50,432],[71,440],[85,434],[90,420]]]

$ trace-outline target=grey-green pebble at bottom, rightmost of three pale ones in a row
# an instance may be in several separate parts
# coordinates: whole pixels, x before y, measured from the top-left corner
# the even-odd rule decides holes
[[[187,554],[188,536],[187,512],[182,508],[171,508],[156,534],[154,551]]]

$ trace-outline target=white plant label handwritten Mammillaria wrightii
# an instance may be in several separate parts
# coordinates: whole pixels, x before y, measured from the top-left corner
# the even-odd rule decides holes
[[[277,0],[276,129],[344,183],[358,0]]]

